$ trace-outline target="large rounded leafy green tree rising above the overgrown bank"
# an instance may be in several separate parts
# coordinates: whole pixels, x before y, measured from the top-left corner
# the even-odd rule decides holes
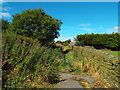
[[[62,22],[46,14],[42,9],[25,10],[13,16],[11,30],[19,35],[37,38],[46,45],[58,38]]]

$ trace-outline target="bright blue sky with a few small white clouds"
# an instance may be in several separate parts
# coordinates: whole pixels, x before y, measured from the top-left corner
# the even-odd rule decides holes
[[[0,18],[12,22],[12,15],[34,8],[42,8],[63,22],[60,37],[55,40],[73,40],[79,34],[118,32],[118,2],[4,2]]]

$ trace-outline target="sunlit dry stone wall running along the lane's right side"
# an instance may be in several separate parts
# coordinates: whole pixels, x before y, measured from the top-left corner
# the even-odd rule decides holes
[[[74,52],[79,56],[78,59],[83,62],[84,67],[92,66],[95,72],[104,77],[107,84],[114,88],[120,87],[120,60],[118,57],[87,47],[76,47]]]

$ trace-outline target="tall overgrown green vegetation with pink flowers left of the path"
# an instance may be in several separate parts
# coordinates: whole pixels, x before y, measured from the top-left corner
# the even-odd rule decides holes
[[[31,88],[37,87],[32,82],[42,85],[58,80],[60,49],[43,47],[38,40],[12,32],[3,33],[2,38],[3,87]]]

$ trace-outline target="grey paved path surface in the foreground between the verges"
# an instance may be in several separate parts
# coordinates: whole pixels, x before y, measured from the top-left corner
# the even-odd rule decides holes
[[[93,83],[95,80],[88,75],[71,75],[67,73],[60,73],[60,82],[56,85],[55,88],[83,88],[80,83],[73,77],[78,77],[87,80],[89,83]]]

